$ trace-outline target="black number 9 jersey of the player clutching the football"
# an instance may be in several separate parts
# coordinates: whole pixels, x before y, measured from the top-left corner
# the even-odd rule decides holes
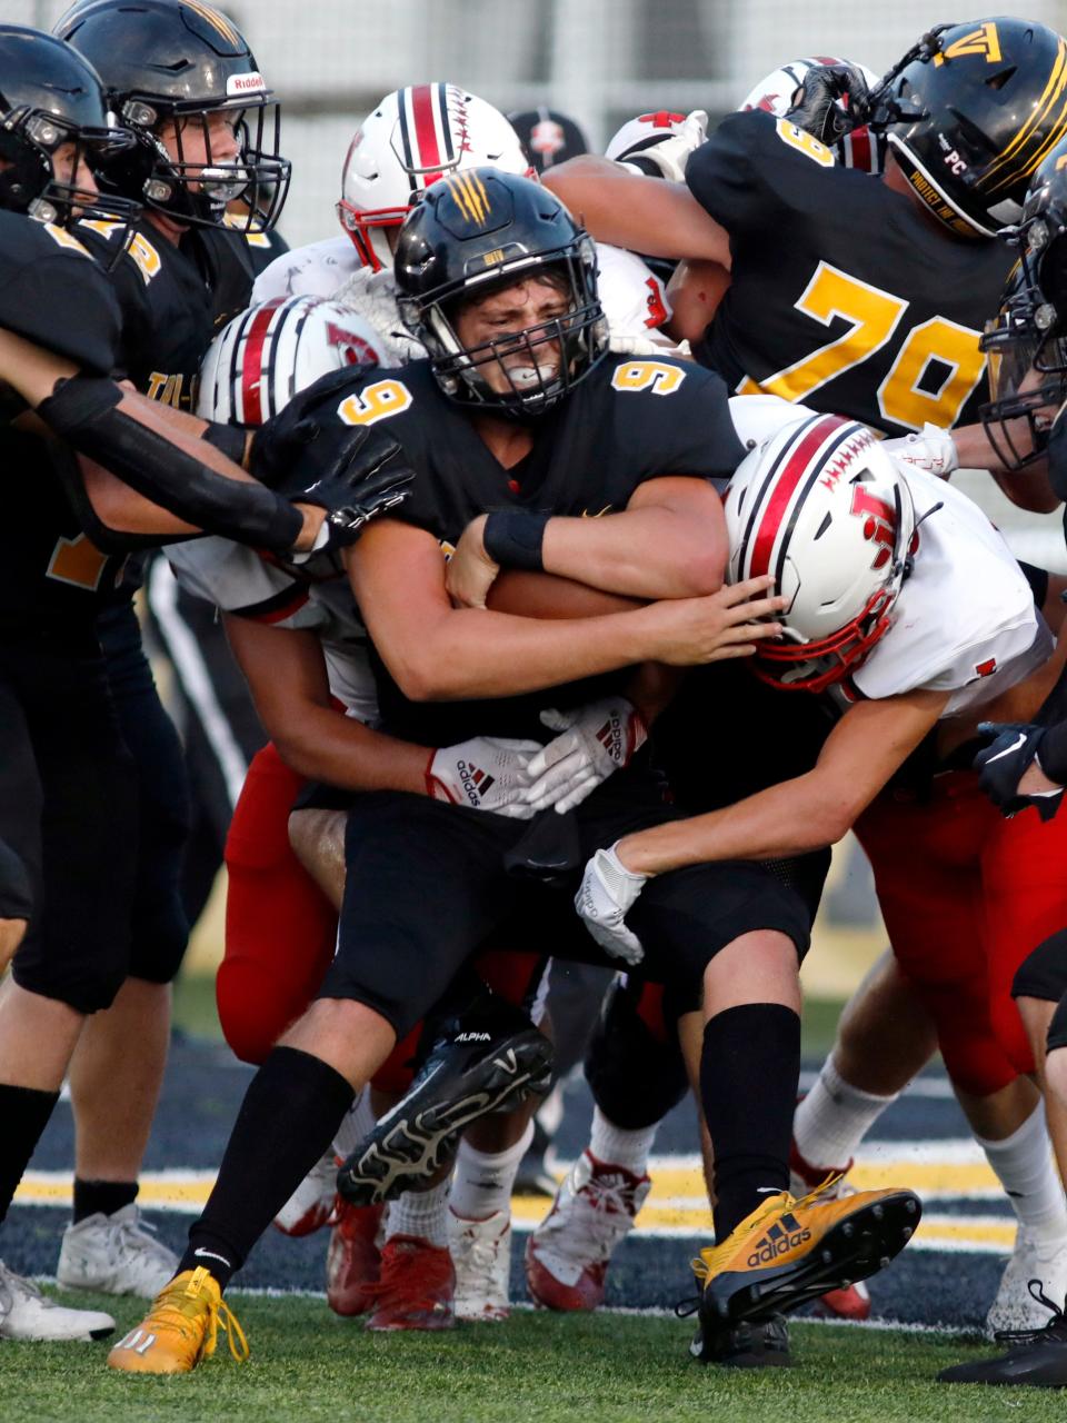
[[[344,388],[336,376],[320,418],[334,425],[377,424],[401,444],[415,470],[411,497],[394,515],[432,534],[445,554],[478,514],[529,509],[599,518],[626,507],[637,485],[657,475],[697,475],[721,488],[744,458],[730,420],[727,391],[711,371],[656,357],[603,360],[535,428],[534,448],[505,470],[472,421],[441,394],[428,361],[376,370]],[[304,393],[317,401],[316,387]],[[297,397],[300,400],[302,397]],[[386,424],[387,423],[387,424]],[[329,451],[326,438],[309,447]],[[386,730],[424,746],[471,736],[548,740],[538,710],[575,706],[619,686],[625,673],[491,702],[408,702],[376,666]]]

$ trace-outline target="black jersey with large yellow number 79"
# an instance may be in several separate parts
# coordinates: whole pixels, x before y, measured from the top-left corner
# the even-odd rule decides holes
[[[957,240],[787,120],[727,117],[686,182],[730,233],[730,289],[700,361],[889,434],[969,424],[989,398],[979,336],[1014,260]]]

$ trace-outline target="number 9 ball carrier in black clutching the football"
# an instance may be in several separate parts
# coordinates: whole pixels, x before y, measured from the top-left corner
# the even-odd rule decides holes
[[[667,359],[607,354],[592,248],[566,211],[528,179],[457,174],[408,215],[397,275],[405,320],[431,359],[347,386],[320,383],[304,397],[323,420],[333,410],[341,424],[380,427],[374,443],[403,451],[420,472],[411,518],[361,539],[364,556],[349,564],[373,642],[383,730],[431,746],[525,729],[543,740],[538,712],[586,702],[590,676],[646,657],[691,663],[751,647],[724,646],[721,605],[707,596],[720,586],[724,554],[707,481],[724,482],[743,455],[721,381]],[[593,517],[613,508],[610,518]],[[458,586],[447,581],[441,545],[461,552],[464,539],[469,556]],[[454,605],[484,603],[501,566],[670,601],[555,620]],[[761,581],[745,595],[758,588]],[[773,608],[757,599],[751,612]],[[670,814],[639,754],[600,780],[570,824],[580,854],[616,827]],[[548,942],[565,904],[508,875],[504,854],[521,837],[511,820],[427,797],[378,791],[353,801],[337,956],[319,999],[253,1080],[182,1271],[112,1350],[114,1368],[195,1368],[218,1322],[229,1319],[221,1294],[232,1274],[322,1155],[354,1090],[471,945],[516,916]],[[650,975],[690,992],[728,943],[747,942],[753,962],[761,945],[777,952],[784,943],[794,955],[807,945],[802,906],[754,865],[697,871],[646,906]],[[788,1137],[792,1103],[775,1093],[781,1084],[788,1096],[795,1084],[800,1020],[795,1006],[781,1005],[741,1016],[740,1036],[718,1035],[714,1016],[706,1030],[716,1084],[704,1104],[708,1124],[723,1137],[733,1130],[744,1161],[721,1178],[718,1210],[724,1235],[747,1220],[748,1245],[780,1262],[770,1292],[757,1266],[738,1262],[714,1329],[708,1323],[720,1342],[753,1315],[871,1274],[902,1248],[919,1212],[911,1192],[829,1205],[785,1194],[784,1158],[778,1168],[767,1151],[778,1131],[768,1111],[784,1111]],[[755,1081],[761,1101],[751,1101]],[[230,1345],[242,1352],[235,1335]]]

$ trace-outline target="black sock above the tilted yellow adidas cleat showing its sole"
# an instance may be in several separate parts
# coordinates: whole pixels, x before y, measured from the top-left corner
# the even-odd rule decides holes
[[[790,1187],[800,1017],[781,1003],[728,1007],[704,1027],[700,1094],[716,1153],[716,1239],[767,1191]]]

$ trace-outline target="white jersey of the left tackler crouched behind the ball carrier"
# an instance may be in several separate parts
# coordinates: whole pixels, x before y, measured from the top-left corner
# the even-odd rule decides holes
[[[255,549],[213,536],[174,544],[166,558],[186,592],[215,603],[222,612],[269,622],[273,628],[317,633],[330,692],[344,703],[349,716],[368,726],[377,723],[378,697],[367,657],[367,630],[344,575],[303,583],[266,562]]]

